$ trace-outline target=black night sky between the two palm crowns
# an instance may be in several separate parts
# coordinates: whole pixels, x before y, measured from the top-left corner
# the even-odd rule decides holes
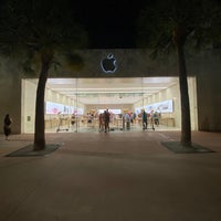
[[[91,0],[74,3],[92,49],[135,48],[136,18],[147,0]]]

